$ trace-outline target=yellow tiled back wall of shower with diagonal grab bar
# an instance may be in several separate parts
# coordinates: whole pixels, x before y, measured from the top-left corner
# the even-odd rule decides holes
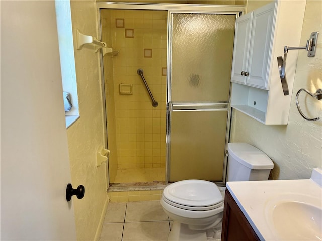
[[[165,167],[167,11],[109,11],[106,25],[111,26],[112,47],[120,52],[113,57],[118,168]],[[156,108],[137,74],[139,68],[158,102]],[[132,84],[133,94],[120,94],[119,84]]]

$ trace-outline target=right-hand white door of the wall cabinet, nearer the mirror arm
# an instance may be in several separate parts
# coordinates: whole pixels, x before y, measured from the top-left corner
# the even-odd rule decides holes
[[[275,3],[254,11],[247,85],[265,89],[268,87],[274,13]]]

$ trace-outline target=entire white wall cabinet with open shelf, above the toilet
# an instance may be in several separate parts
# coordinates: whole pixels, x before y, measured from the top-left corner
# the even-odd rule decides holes
[[[305,4],[302,0],[274,1],[236,20],[231,107],[261,123],[288,122],[298,51],[287,56],[287,96],[283,94],[277,56],[283,56],[285,45],[300,46]]]

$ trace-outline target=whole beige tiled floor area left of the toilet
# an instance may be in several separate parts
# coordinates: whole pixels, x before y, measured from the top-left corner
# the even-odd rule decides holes
[[[167,241],[172,221],[160,201],[112,202],[100,241]]]

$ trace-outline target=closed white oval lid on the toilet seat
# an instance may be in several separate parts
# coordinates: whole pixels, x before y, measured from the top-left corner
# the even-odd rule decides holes
[[[203,180],[184,180],[170,184],[163,196],[173,203],[190,207],[216,206],[223,199],[216,184]]]

